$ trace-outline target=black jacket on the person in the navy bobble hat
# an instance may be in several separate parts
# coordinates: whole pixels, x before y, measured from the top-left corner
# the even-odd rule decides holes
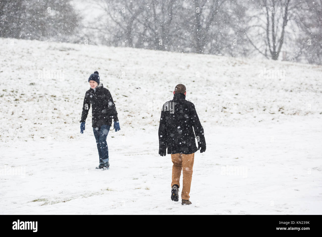
[[[102,125],[112,125],[112,118],[118,121],[118,113],[109,90],[100,83],[95,90],[89,89],[84,98],[83,111],[81,114],[81,123],[85,122],[88,111],[92,105],[92,127],[101,127]]]

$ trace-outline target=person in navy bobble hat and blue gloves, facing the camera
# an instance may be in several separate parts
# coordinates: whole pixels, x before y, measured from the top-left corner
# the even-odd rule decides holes
[[[99,151],[99,166],[96,169],[109,169],[109,148],[106,138],[114,120],[115,132],[120,130],[118,113],[109,90],[99,82],[99,73],[95,71],[88,78],[90,89],[86,92],[81,114],[81,133],[85,130],[85,120],[92,105],[92,127]]]

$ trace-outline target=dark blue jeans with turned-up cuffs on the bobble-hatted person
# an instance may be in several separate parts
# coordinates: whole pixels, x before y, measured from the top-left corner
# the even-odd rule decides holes
[[[110,127],[108,125],[102,125],[100,128],[93,128],[97,150],[99,151],[99,164],[109,161],[109,147],[107,146],[106,138],[107,134],[109,134]]]

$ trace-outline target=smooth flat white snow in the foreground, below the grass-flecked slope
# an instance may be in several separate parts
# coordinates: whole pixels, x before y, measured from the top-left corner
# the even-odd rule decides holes
[[[105,171],[95,169],[94,139],[2,143],[1,167],[18,173],[2,176],[1,214],[320,214],[322,131],[314,124],[205,124],[190,206],[170,200],[172,163],[157,154],[157,127],[109,134]]]

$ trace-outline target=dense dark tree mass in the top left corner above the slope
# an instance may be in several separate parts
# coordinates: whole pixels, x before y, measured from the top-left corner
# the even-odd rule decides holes
[[[68,41],[80,17],[69,0],[2,0],[0,36]]]

